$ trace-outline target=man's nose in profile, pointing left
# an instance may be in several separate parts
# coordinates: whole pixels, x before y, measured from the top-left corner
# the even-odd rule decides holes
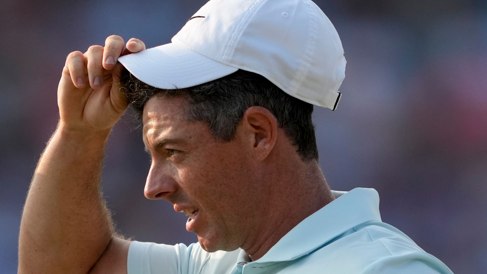
[[[151,200],[168,198],[176,193],[178,184],[170,176],[167,165],[160,165],[152,161],[149,175],[147,176],[144,195]]]

